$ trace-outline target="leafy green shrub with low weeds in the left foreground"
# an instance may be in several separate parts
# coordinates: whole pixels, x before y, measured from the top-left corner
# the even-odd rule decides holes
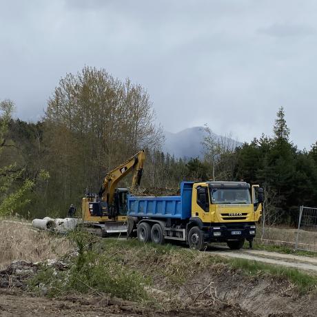
[[[62,296],[74,292],[106,293],[125,300],[147,300],[145,285],[149,280],[120,263],[114,255],[92,251],[91,234],[74,231],[69,235],[79,255],[70,260],[69,269],[58,271],[43,265],[29,280],[29,287],[39,294]]]

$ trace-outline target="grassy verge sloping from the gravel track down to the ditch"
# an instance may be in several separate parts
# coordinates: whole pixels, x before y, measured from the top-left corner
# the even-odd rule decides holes
[[[145,267],[150,267],[152,278],[163,276],[165,283],[170,283],[174,287],[186,283],[188,276],[198,274],[208,267],[214,271],[221,268],[221,265],[226,265],[231,269],[240,270],[245,276],[267,274],[267,276],[274,278],[289,280],[302,294],[317,288],[317,276],[301,272],[298,269],[269,265],[254,260],[213,256],[212,252],[197,252],[193,249],[174,245],[161,246],[151,243],[144,245],[136,240],[105,240],[102,243],[108,252],[116,250],[116,254],[126,257],[131,265],[141,267],[143,264]],[[129,257],[129,252],[135,254],[135,258]],[[154,274],[153,270],[155,270]],[[145,272],[147,271],[145,270]]]

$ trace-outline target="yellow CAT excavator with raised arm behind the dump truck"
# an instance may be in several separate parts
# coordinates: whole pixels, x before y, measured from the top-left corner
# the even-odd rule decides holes
[[[99,194],[86,194],[82,201],[85,231],[98,236],[127,232],[127,188],[117,188],[119,181],[133,172],[131,190],[141,183],[144,150],[105,175]]]

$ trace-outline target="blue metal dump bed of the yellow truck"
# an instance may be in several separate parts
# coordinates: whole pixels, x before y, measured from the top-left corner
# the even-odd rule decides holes
[[[192,216],[193,182],[181,183],[181,196],[127,198],[127,215],[147,218],[187,219]]]

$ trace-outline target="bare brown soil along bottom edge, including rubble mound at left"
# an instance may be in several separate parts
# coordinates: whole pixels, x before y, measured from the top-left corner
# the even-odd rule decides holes
[[[155,303],[134,303],[107,294],[72,294],[54,298],[35,297],[28,289],[28,280],[37,274],[44,263],[17,261],[0,272],[0,315],[1,316],[255,316],[221,300],[201,298],[194,300],[187,307],[171,309],[170,306],[158,306]],[[56,270],[68,269],[60,261],[46,261],[45,264]],[[23,292],[24,291],[24,292]],[[19,300],[17,300],[19,298]],[[197,300],[198,299],[198,300]],[[208,304],[206,305],[206,301]]]

